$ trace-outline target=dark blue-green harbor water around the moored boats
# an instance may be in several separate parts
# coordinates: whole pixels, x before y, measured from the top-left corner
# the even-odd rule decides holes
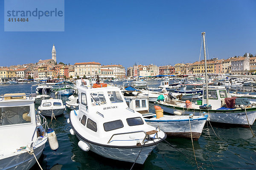
[[[122,84],[122,82],[116,82]],[[0,85],[0,94],[30,93],[32,84]],[[148,81],[149,87],[157,87],[160,81]],[[35,89],[33,91],[35,93]],[[54,93],[53,98],[58,98]],[[67,96],[61,96],[63,103]],[[38,108],[39,105],[35,105]],[[154,112],[154,104],[150,103],[150,112]],[[84,152],[78,147],[79,140],[70,134],[67,123],[70,110],[56,117],[47,118],[50,128],[55,130],[59,148],[50,149],[46,143],[39,163],[44,170],[129,170],[132,163],[115,161],[99,156],[93,152]],[[256,123],[252,126],[256,134]],[[25,132],[24,132],[25,133]],[[216,134],[216,135],[215,135]],[[256,169],[256,138],[250,128],[211,126],[207,123],[198,141],[181,138],[167,138],[148,156],[143,165],[135,164],[134,170],[223,170]],[[171,144],[171,145],[170,145]],[[193,151],[195,150],[195,155]],[[195,159],[198,165],[195,163]],[[201,164],[203,163],[203,164]],[[38,170],[35,164],[31,170]]]

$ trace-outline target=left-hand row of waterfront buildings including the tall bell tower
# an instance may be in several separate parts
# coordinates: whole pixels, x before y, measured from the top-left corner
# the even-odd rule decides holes
[[[57,64],[55,46],[52,46],[52,58],[40,59],[37,63],[0,67],[0,82],[5,79],[72,79],[79,77],[124,78],[122,65],[101,65],[99,62],[76,62],[74,65]]]

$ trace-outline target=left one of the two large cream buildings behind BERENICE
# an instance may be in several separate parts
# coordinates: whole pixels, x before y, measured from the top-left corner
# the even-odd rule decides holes
[[[75,76],[83,77],[95,77],[101,74],[101,63],[99,62],[76,62]]]

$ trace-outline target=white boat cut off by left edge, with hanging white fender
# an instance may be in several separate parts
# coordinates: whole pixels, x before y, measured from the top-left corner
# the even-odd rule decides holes
[[[25,93],[0,97],[1,170],[29,170],[44,150],[47,122],[34,101]]]

